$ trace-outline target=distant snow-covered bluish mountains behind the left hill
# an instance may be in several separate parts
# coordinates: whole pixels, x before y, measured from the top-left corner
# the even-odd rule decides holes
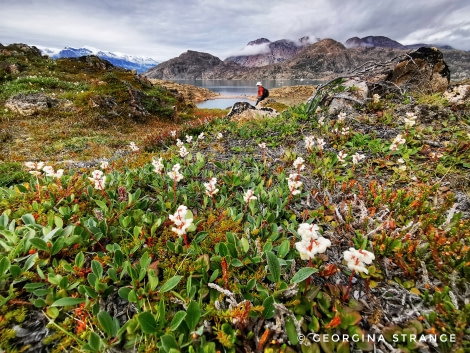
[[[114,66],[122,67],[128,70],[136,70],[137,73],[143,73],[158,65],[158,62],[152,58],[142,58],[138,56],[116,54],[89,48],[71,48],[51,49],[39,48],[43,55],[48,55],[52,59],[58,58],[78,58],[81,56],[96,55],[100,59],[108,60]]]

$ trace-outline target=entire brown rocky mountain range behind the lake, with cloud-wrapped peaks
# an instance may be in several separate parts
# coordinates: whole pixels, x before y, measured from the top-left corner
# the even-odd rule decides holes
[[[313,43],[312,43],[313,42]],[[313,79],[347,73],[368,62],[387,62],[410,50],[437,47],[444,54],[453,80],[470,78],[470,52],[447,45],[403,45],[384,36],[352,37],[344,44],[334,39],[297,41],[260,38],[249,42],[240,55],[221,60],[209,53],[187,51],[144,73],[148,78],[186,79]]]

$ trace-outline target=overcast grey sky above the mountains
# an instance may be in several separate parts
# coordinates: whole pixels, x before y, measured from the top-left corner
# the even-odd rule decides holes
[[[257,38],[383,35],[470,50],[469,0],[0,0],[0,43],[225,59]]]

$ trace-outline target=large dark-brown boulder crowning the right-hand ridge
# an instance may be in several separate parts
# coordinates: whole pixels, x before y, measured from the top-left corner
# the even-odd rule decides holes
[[[399,62],[386,81],[423,93],[445,92],[450,82],[450,70],[442,52],[421,47]]]

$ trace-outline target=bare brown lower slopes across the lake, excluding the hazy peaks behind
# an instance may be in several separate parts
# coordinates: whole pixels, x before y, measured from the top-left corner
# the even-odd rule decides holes
[[[144,73],[148,78],[175,79],[317,79],[324,80],[369,62],[386,62],[410,50],[379,47],[346,48],[333,39],[305,46],[293,58],[261,67],[245,67],[207,53],[188,51]],[[470,53],[443,49],[452,80],[470,77]]]

